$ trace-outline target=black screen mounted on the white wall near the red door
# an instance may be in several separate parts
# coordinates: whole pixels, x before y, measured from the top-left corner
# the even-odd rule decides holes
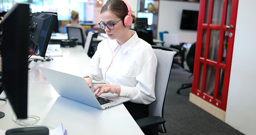
[[[197,30],[198,13],[199,11],[183,10],[180,29]]]

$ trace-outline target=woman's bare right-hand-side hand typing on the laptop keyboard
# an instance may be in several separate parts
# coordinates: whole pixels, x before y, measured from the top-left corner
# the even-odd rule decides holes
[[[98,89],[98,92],[95,94],[96,97],[100,96],[102,93],[116,93],[118,95],[120,95],[120,91],[121,91],[121,87],[120,86],[116,86],[116,85],[109,85],[109,84],[100,84],[98,86],[96,86],[93,89],[93,92],[96,92]]]

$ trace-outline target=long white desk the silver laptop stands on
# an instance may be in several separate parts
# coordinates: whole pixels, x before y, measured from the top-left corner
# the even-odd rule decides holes
[[[38,66],[79,74],[89,62],[89,57],[85,55],[81,46],[61,48],[61,51],[63,57],[53,57],[52,61],[32,62],[29,65],[31,69],[28,85],[28,115],[40,117],[35,125],[44,125],[52,129],[62,123],[68,134],[143,134],[123,104],[99,110],[60,97],[55,92]],[[0,97],[5,97],[4,93]],[[0,102],[0,111],[6,114],[0,119],[1,130],[21,127],[12,122],[14,112],[9,102],[6,105]]]

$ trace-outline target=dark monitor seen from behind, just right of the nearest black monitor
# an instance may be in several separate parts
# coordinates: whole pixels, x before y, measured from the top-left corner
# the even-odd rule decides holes
[[[29,49],[41,57],[46,55],[47,46],[56,20],[57,16],[55,14],[38,12],[35,13],[29,23],[29,39],[31,41]]]

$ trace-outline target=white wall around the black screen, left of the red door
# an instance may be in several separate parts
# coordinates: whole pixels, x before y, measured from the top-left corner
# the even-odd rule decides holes
[[[159,31],[168,31],[177,33],[179,42],[196,42],[196,31],[180,30],[182,10],[199,11],[199,3],[177,2],[177,1],[159,1],[158,13],[158,39]]]

